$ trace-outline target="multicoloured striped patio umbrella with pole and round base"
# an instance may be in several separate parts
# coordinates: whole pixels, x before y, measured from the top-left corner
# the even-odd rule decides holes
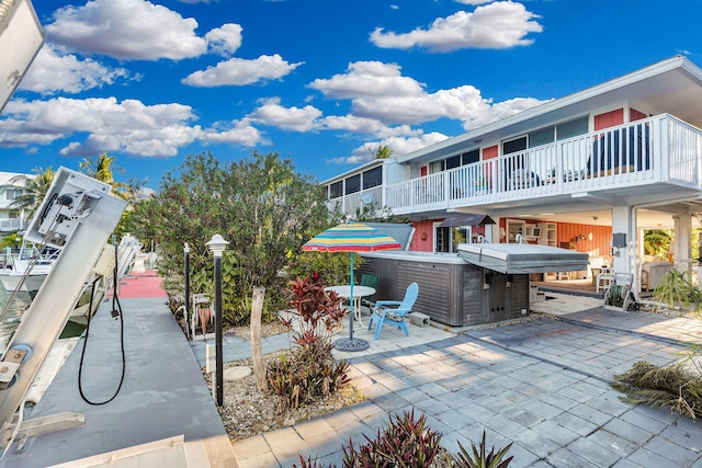
[[[362,351],[369,347],[365,340],[353,339],[353,252],[399,249],[401,246],[380,230],[362,222],[335,226],[318,233],[303,246],[305,251],[351,252],[351,313],[349,313],[349,339],[337,340],[335,346],[341,351]]]

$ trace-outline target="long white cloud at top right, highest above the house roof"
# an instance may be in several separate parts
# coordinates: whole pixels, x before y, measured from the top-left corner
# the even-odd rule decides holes
[[[428,28],[417,27],[410,33],[397,34],[377,27],[371,34],[371,42],[383,48],[424,47],[432,52],[508,48],[533,43],[524,37],[543,31],[534,21],[537,18],[521,3],[499,1],[477,7],[473,13],[458,11],[439,18]]]

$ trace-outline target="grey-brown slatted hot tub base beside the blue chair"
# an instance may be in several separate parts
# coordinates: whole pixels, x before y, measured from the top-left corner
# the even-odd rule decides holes
[[[529,310],[529,275],[502,274],[455,253],[363,252],[361,273],[380,276],[374,300],[400,300],[419,285],[414,311],[463,327],[519,317]]]

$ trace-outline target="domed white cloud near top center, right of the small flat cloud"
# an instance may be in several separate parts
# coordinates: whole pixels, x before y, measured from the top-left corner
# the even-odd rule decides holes
[[[337,99],[383,95],[421,95],[422,84],[403,77],[397,64],[356,61],[349,64],[346,75],[317,79],[309,88]]]

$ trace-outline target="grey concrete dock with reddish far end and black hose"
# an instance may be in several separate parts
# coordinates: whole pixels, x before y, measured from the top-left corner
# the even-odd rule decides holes
[[[121,308],[125,373],[116,397],[105,404],[81,398],[81,338],[25,419],[75,412],[84,414],[84,425],[31,437],[21,453],[15,442],[0,466],[237,466],[215,401],[160,283],[148,271],[123,278],[118,300],[107,295],[90,324],[82,392],[101,403],[121,384],[121,321],[112,318],[113,309]]]

